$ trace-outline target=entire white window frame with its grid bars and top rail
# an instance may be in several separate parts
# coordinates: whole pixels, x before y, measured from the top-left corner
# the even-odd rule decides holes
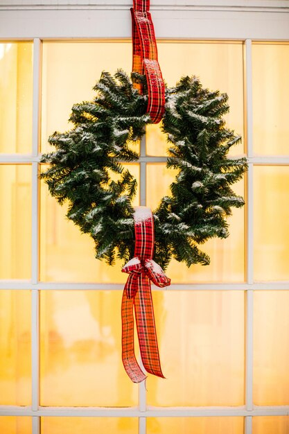
[[[21,3],[21,4],[19,4]],[[245,417],[245,434],[252,434],[253,416],[288,415],[289,406],[253,404],[253,295],[257,290],[289,290],[288,281],[256,283],[253,279],[253,167],[289,165],[289,155],[255,157],[252,142],[252,40],[289,40],[289,1],[279,0],[161,0],[152,1],[151,11],[157,37],[190,40],[242,40],[245,42],[245,119],[249,169],[246,182],[246,280],[243,284],[172,284],[168,290],[245,290],[245,406],[236,407],[150,407],[146,388],[139,385],[137,408],[41,407],[40,379],[40,290],[120,290],[118,284],[58,284],[39,280],[39,166],[40,89],[42,41],[91,40],[130,37],[130,2],[122,0],[1,0],[0,40],[33,41],[33,152],[29,155],[0,154],[0,164],[32,165],[32,277],[30,281],[0,280],[0,289],[32,288],[32,406],[0,406],[0,416],[30,416],[33,434],[40,434],[40,417],[91,416],[137,417],[139,434],[146,434],[147,417]],[[73,3],[73,4],[72,4]],[[53,23],[53,26],[51,25]],[[169,30],[168,30],[169,29]],[[166,162],[166,157],[146,156],[145,139],[140,153],[140,201],[146,205],[146,164]],[[157,290],[157,288],[154,288]],[[254,433],[253,433],[254,434]]]

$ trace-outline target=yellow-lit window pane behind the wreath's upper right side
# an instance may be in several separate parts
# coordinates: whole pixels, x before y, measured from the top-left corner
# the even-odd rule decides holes
[[[157,45],[159,64],[168,86],[175,86],[182,76],[198,76],[202,85],[229,95],[229,128],[243,136],[243,44],[242,42],[164,42]],[[160,124],[147,128],[148,155],[166,155],[166,137]],[[231,153],[242,154],[243,144]]]

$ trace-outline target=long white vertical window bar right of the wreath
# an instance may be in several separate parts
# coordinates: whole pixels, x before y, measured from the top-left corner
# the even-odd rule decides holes
[[[254,281],[254,195],[253,195],[253,107],[252,107],[252,41],[245,42],[246,64],[246,135],[249,167],[247,172],[247,217],[246,217],[246,279],[247,284]],[[246,410],[253,410],[253,290],[247,290],[245,304],[245,405]],[[245,434],[252,434],[252,417],[245,418]]]

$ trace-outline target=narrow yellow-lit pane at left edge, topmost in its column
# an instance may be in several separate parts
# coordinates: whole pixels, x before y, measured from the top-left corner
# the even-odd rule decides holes
[[[33,44],[0,43],[0,152],[32,150]]]

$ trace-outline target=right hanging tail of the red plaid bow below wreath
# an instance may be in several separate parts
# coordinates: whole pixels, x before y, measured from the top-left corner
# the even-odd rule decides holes
[[[165,377],[161,372],[161,363],[159,361],[155,315],[152,306],[152,291],[150,280],[146,275],[141,275],[139,285],[141,288],[139,288],[135,296],[134,308],[141,360],[143,361],[143,366],[150,374],[164,379]]]

